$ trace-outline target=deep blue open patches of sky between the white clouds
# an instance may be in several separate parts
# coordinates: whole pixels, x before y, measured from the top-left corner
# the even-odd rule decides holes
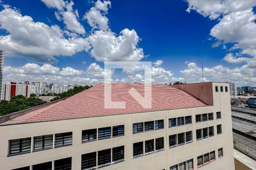
[[[65,2],[66,6],[70,1],[62,1]],[[102,4],[104,3],[103,1]],[[207,2],[207,1],[205,1]],[[204,2],[204,3],[205,3]],[[216,1],[217,2],[217,1]],[[176,80],[181,80],[184,82],[197,82],[200,81],[198,68],[201,67],[201,62],[204,63],[205,69],[209,69],[212,72],[207,74],[209,70],[205,70],[206,78],[205,80],[232,80],[237,82],[238,84],[245,85],[247,84],[253,85],[255,84],[256,80],[248,80],[252,75],[255,75],[255,67],[248,66],[251,65],[247,63],[247,59],[255,59],[254,54],[256,52],[247,52],[247,49],[255,50],[255,45],[243,45],[243,40],[246,39],[246,35],[241,35],[236,37],[236,31],[240,32],[239,29],[232,29],[231,28],[218,28],[211,33],[214,26],[220,24],[221,22],[225,22],[225,17],[228,18],[230,15],[238,15],[237,12],[244,12],[249,11],[246,14],[252,15],[255,17],[255,2],[251,1],[249,5],[243,5],[241,9],[229,9],[225,8],[226,4],[221,4],[224,6],[224,9],[212,9],[212,11],[205,10],[204,3],[197,4],[194,1],[181,1],[181,0],[174,0],[174,1],[162,1],[161,3],[156,1],[111,1],[111,8],[110,5],[109,10],[107,12],[101,11],[102,16],[108,18],[108,29],[110,32],[115,33],[115,36],[120,35],[123,29],[132,30],[134,29],[135,33],[137,33],[139,37],[139,41],[137,47],[143,49],[143,57],[142,59],[137,59],[137,61],[151,61],[155,62],[156,60],[162,60],[163,63],[160,67],[164,71],[170,71],[171,75],[167,72],[163,74],[167,74],[166,79],[170,78],[170,82],[174,82]],[[212,3],[209,1],[207,5]],[[224,3],[224,2],[219,2]],[[227,1],[226,3],[232,3]],[[15,10],[15,12],[19,13],[20,15],[30,16],[34,23],[40,22],[48,25],[58,25],[61,31],[69,31],[69,33],[76,32],[74,30],[68,29],[67,23],[65,23],[64,19],[58,20],[55,16],[55,12],[59,12],[61,16],[61,9],[57,9],[57,7],[51,6],[51,4],[47,4],[47,0],[40,1],[40,0],[23,0],[23,1],[2,1],[2,5],[0,10],[6,10],[6,8],[10,8]],[[6,5],[9,5],[7,7]],[[56,5],[56,4],[55,4]],[[65,5],[65,4],[64,4]],[[65,7],[63,5],[62,11],[65,11]],[[232,4],[231,4],[232,5]],[[96,1],[73,1],[72,11],[75,14],[75,10],[79,12],[79,18],[77,17],[77,22],[81,24],[81,27],[84,27],[84,33],[78,33],[76,36],[67,36],[65,35],[66,39],[71,37],[80,37],[82,39],[86,39],[89,36],[93,35],[92,32],[101,30],[97,27],[98,23],[94,23],[96,25],[95,28],[92,28],[92,25],[88,23],[88,19],[83,19],[86,12],[90,11],[90,8],[96,6]],[[187,8],[191,6],[191,11],[186,11]],[[98,10],[100,11],[100,10]],[[228,12],[227,12],[228,11]],[[8,12],[8,11],[7,11]],[[1,15],[7,15],[8,13],[5,12]],[[9,11],[10,12],[10,11]],[[104,13],[105,12],[105,13]],[[249,14],[250,13],[250,14]],[[239,15],[238,15],[239,16]],[[9,17],[13,17],[10,15]],[[64,15],[61,16],[64,18]],[[96,16],[95,16],[96,17]],[[245,16],[247,17],[247,16]],[[234,16],[233,22],[239,22],[239,20]],[[0,20],[1,29],[0,35],[7,36],[15,35],[14,28],[7,28],[5,24],[3,24],[5,20]],[[11,23],[10,23],[11,24]],[[255,19],[249,20],[248,23],[243,23],[250,25],[251,30],[256,31],[255,29]],[[23,24],[24,25],[24,24]],[[99,25],[99,24],[98,24]],[[236,26],[236,25],[234,25]],[[15,27],[15,26],[14,26]],[[29,27],[29,26],[28,26]],[[239,24],[237,25],[239,27]],[[16,28],[19,29],[19,28]],[[26,27],[27,29],[27,27]],[[227,29],[230,31],[234,31],[233,34],[230,34],[228,37],[221,34],[220,32],[224,32]],[[255,29],[255,30],[254,30]],[[32,29],[31,29],[32,30]],[[106,31],[106,29],[105,29]],[[211,33],[211,34],[210,34]],[[29,33],[28,35],[31,35]],[[233,36],[233,37],[232,37]],[[247,36],[255,36],[254,33],[252,35]],[[15,43],[24,43],[27,40],[23,40],[23,37],[16,36],[16,40],[18,42]],[[14,41],[14,40],[13,40]],[[33,45],[38,45],[36,48],[40,48],[40,40],[39,42],[32,42]],[[241,41],[241,43],[240,43]],[[216,42],[220,42],[221,45],[213,48],[213,44]],[[10,42],[11,43],[11,42]],[[237,49],[230,49],[234,46],[234,44],[238,44],[241,47]],[[253,44],[253,43],[252,43]],[[24,45],[24,44],[23,44]],[[226,47],[224,47],[224,45]],[[81,76],[82,78],[89,77],[90,79],[97,79],[100,81],[99,77],[93,77],[93,73],[88,72],[88,67],[92,63],[96,63],[97,66],[100,68],[104,67],[103,62],[104,59],[97,59],[90,50],[75,50],[73,54],[67,52],[67,55],[57,54],[53,57],[57,60],[54,62],[47,62],[44,61],[45,53],[40,54],[39,59],[34,58],[34,54],[31,52],[12,52],[12,49],[7,48],[6,46],[1,46],[0,48],[6,51],[6,58],[5,58],[5,72],[4,72],[4,79],[15,81],[17,78],[19,81],[23,81],[19,74],[21,74],[24,65],[27,63],[34,63],[40,66],[40,69],[43,64],[51,64],[55,68],[59,68],[60,71],[63,68],[71,67],[74,70],[83,71],[83,73],[78,75],[72,75],[73,77]],[[90,46],[92,49],[97,49],[95,46]],[[225,56],[230,55],[229,58]],[[135,59],[136,60],[136,59]],[[255,60],[256,61],[256,60]],[[86,62],[86,63],[84,63]],[[191,63],[191,65],[189,65]],[[245,66],[246,65],[246,66]],[[256,64],[255,64],[256,65]],[[94,65],[95,66],[95,65]],[[218,70],[222,70],[223,68],[217,66],[222,66],[225,68],[222,73],[218,73]],[[249,75],[247,79],[240,80],[236,77],[238,74],[243,74],[248,72],[248,70],[241,70],[243,67],[248,67]],[[197,70],[195,70],[195,68]],[[12,70],[15,70],[14,73]],[[221,74],[232,74],[234,71],[236,72],[237,69],[240,69],[236,75],[229,75],[226,76],[225,79],[221,79]],[[18,70],[18,71],[17,71]],[[216,72],[217,70],[217,72]],[[254,71],[253,71],[254,70]],[[86,72],[87,71],[87,72]],[[92,70],[93,71],[93,70]],[[95,71],[95,68],[94,68]],[[96,70],[99,71],[99,70]],[[158,71],[158,70],[157,70]],[[214,72],[215,71],[215,72]],[[252,71],[252,72],[251,72]],[[161,72],[161,71],[160,71]],[[191,73],[190,73],[191,72]],[[5,78],[6,73],[6,78]],[[26,74],[26,71],[23,70],[23,74]],[[45,73],[46,77],[52,76],[49,73]],[[162,72],[161,72],[162,73]],[[35,73],[39,74],[39,73]],[[22,76],[30,80],[34,77],[33,76]],[[49,74],[49,75],[48,75]],[[53,73],[53,76],[61,76],[58,73]],[[189,75],[191,74],[191,75]],[[216,77],[217,74],[220,76]],[[65,75],[65,74],[64,74]],[[156,75],[157,76],[157,75]],[[168,77],[169,76],[169,77]],[[241,75],[240,75],[241,76]],[[37,76],[36,76],[37,77]],[[65,82],[60,82],[56,78],[49,78],[46,79],[42,78],[36,79],[40,81],[49,80],[56,83],[72,83],[72,78],[69,80],[65,80]],[[193,79],[192,79],[193,78]],[[156,78],[158,79],[158,78]],[[16,80],[16,81],[18,81]],[[160,80],[160,78],[159,78]],[[167,83],[166,80],[163,82],[156,81],[156,83]],[[82,83],[82,82],[79,82]],[[84,82],[85,83],[85,82]],[[87,82],[86,82],[87,83]],[[92,82],[90,82],[92,83]],[[97,82],[94,82],[97,83]]]

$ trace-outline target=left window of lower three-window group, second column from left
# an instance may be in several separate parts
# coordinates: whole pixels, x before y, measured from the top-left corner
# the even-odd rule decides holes
[[[96,152],[91,152],[89,154],[82,155],[81,169],[82,170],[90,169],[90,168],[96,169],[96,155],[97,155]]]

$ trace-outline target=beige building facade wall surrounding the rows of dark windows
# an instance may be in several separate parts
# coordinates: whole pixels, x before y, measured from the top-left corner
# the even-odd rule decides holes
[[[213,83],[215,85],[228,86],[226,83]],[[52,160],[67,158],[72,156],[72,169],[81,169],[81,155],[93,151],[100,151],[106,148],[125,146],[125,161],[110,165],[105,169],[169,169],[186,160],[194,160],[194,169],[197,169],[197,156],[206,154],[215,150],[216,160],[200,169],[234,169],[233,158],[233,141],[232,141],[232,122],[230,111],[229,92],[213,91],[214,106],[176,109],[170,111],[122,114],[105,117],[80,118],[63,121],[38,122],[31,124],[19,124],[0,126],[0,162],[1,169],[13,169],[34,165]],[[216,112],[222,112],[222,118],[216,120]],[[195,123],[195,115],[200,113],[214,112],[214,121]],[[192,124],[175,128],[168,128],[168,118],[190,116],[192,115]],[[164,119],[164,129],[148,131],[140,134],[133,134],[133,123],[145,122],[151,120]],[[217,135],[216,125],[222,125],[222,134]],[[106,126],[125,125],[125,136],[104,139],[101,141],[81,143],[82,130],[103,128]],[[196,141],[196,129],[214,126],[214,137]],[[192,130],[193,142],[187,145],[169,148],[168,136],[171,134],[183,133]],[[53,148],[50,150],[31,152],[7,157],[8,140],[35,137],[38,135],[47,135],[63,132],[73,132],[73,145]],[[155,152],[154,154],[144,155],[133,159],[133,143],[164,137],[164,151]],[[218,159],[217,150],[223,147],[224,156]]]

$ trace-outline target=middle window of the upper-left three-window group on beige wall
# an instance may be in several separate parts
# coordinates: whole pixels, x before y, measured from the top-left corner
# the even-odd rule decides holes
[[[34,137],[34,151],[52,148],[53,135]]]

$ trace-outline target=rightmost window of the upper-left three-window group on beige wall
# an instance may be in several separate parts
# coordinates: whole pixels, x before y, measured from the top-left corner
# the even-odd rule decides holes
[[[55,134],[55,147],[72,145],[72,132]]]

